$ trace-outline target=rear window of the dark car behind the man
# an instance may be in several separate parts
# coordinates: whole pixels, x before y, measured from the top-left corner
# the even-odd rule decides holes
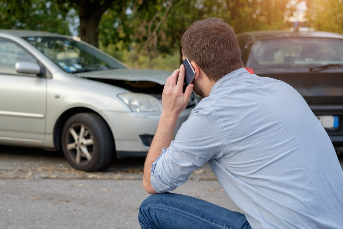
[[[288,38],[252,44],[247,67],[282,68],[343,64],[343,40]]]

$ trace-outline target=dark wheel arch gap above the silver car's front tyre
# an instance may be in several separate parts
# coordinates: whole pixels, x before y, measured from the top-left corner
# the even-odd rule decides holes
[[[62,136],[62,130],[63,130],[63,127],[64,127],[64,124],[66,124],[67,120],[73,116],[74,114],[77,114],[77,113],[94,113],[94,114],[97,114],[100,118],[102,118],[105,123],[107,124],[107,127],[109,128],[110,130],[110,133],[111,133],[111,139],[113,141],[113,145],[114,145],[114,149],[116,149],[116,146],[115,146],[115,141],[114,141],[114,136],[113,136],[113,132],[110,128],[110,126],[108,125],[108,123],[106,122],[106,120],[96,111],[90,109],[90,108],[86,108],[86,107],[73,107],[73,108],[70,108],[66,111],[64,111],[60,117],[58,117],[56,123],[55,123],[55,126],[54,126],[54,132],[53,132],[53,135],[54,135],[54,146],[56,149],[61,149],[62,147],[62,142],[61,142],[61,136]],[[114,156],[116,156],[116,150],[114,152]]]

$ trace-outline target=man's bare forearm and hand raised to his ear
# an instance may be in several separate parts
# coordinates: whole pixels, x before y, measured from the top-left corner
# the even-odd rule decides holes
[[[179,76],[178,80],[177,76]],[[193,84],[187,86],[185,94],[182,92],[185,78],[185,67],[181,65],[180,69],[167,79],[162,95],[162,114],[159,118],[157,130],[154,139],[146,155],[143,174],[143,187],[149,194],[156,191],[151,185],[151,164],[161,154],[163,148],[168,148],[180,113],[186,108],[193,90]]]

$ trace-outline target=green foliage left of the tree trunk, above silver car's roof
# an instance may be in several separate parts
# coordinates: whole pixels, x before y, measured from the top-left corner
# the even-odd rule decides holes
[[[68,4],[44,0],[0,0],[0,28],[70,35],[74,14]]]

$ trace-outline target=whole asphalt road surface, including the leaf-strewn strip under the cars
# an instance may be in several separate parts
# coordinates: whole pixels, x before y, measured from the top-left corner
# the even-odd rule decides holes
[[[114,160],[108,170],[74,170],[59,152],[0,145],[0,229],[140,228],[143,159]],[[343,169],[343,156],[340,156]],[[208,165],[175,193],[241,211]]]

